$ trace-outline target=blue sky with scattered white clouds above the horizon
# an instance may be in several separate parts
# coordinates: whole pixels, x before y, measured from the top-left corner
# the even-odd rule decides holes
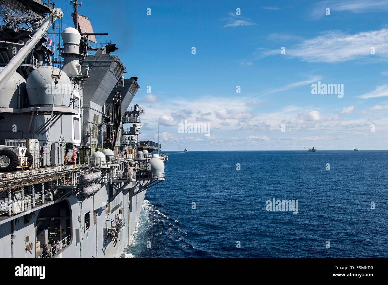
[[[56,7],[71,25],[73,6]],[[157,140],[159,123],[164,150],[386,149],[387,12],[384,0],[85,0],[80,8],[116,43],[127,77],[139,77],[139,139]],[[343,97],[313,95],[318,81],[343,84]],[[210,136],[178,133],[185,120],[208,123]]]

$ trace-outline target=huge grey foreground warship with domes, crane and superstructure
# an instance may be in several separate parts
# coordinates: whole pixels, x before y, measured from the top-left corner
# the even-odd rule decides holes
[[[120,257],[165,180],[137,77],[72,3],[62,31],[51,0],[0,0],[0,257]]]

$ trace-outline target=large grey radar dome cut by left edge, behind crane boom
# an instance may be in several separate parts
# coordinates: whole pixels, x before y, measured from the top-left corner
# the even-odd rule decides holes
[[[0,71],[3,70],[3,67],[0,67]],[[21,98],[25,97],[26,91],[26,80],[16,71],[12,74],[11,78],[5,83],[3,88],[1,88],[0,96],[0,107],[3,108],[18,108],[18,99],[19,92]],[[24,95],[24,96],[23,96]]]

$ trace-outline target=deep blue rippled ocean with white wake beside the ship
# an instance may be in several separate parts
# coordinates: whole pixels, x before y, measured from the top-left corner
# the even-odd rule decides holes
[[[388,151],[166,153],[123,257],[388,257]]]

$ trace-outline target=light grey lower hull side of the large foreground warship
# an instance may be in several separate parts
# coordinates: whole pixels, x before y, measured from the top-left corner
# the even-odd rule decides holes
[[[101,188],[99,192],[92,197],[79,202],[75,197],[68,199],[47,201],[43,205],[36,205],[35,213],[36,219],[25,223],[24,213],[5,218],[0,221],[0,252],[2,258],[36,258],[42,256],[42,249],[40,246],[33,246],[30,244],[32,237],[36,233],[42,232],[38,224],[42,219],[50,221],[53,218],[52,226],[47,226],[47,231],[51,228],[61,231],[61,246],[58,246],[55,254],[49,251],[47,258],[116,258],[120,257],[126,246],[132,240],[133,234],[136,231],[139,223],[140,211],[143,205],[145,191],[130,197],[131,187],[128,185],[120,192],[116,193],[113,201],[109,206],[101,206],[108,200],[109,190]],[[115,211],[108,211],[107,209],[114,209],[120,205]],[[68,206],[68,208],[66,208]],[[57,216],[57,210],[62,210],[64,216]],[[115,215],[123,211],[123,220],[125,225],[120,229],[117,236],[117,243],[107,239],[104,235],[104,229],[107,228],[106,221],[115,218]],[[66,211],[66,216],[65,216]],[[48,214],[51,212],[51,214]],[[82,229],[83,221],[78,219],[79,216],[84,216],[85,213],[92,212],[95,216],[92,217],[90,227],[85,230]],[[71,217],[71,218],[70,218]],[[12,225],[14,223],[14,225]],[[54,223],[59,223],[55,226]],[[47,223],[49,224],[49,223]],[[69,225],[69,226],[68,226]],[[70,228],[69,228],[70,227]],[[14,228],[14,230],[13,230]],[[77,229],[78,228],[78,229]],[[62,232],[62,230],[64,230]],[[77,231],[77,232],[76,232]],[[13,237],[12,238],[12,234]],[[76,235],[79,235],[79,240],[76,240]],[[26,242],[26,237],[31,237],[31,240]],[[11,242],[14,243],[13,250],[11,250]],[[49,241],[50,242],[50,241]],[[22,246],[20,246],[22,245]],[[61,248],[60,248],[61,247]],[[49,246],[50,248],[50,246]]]

